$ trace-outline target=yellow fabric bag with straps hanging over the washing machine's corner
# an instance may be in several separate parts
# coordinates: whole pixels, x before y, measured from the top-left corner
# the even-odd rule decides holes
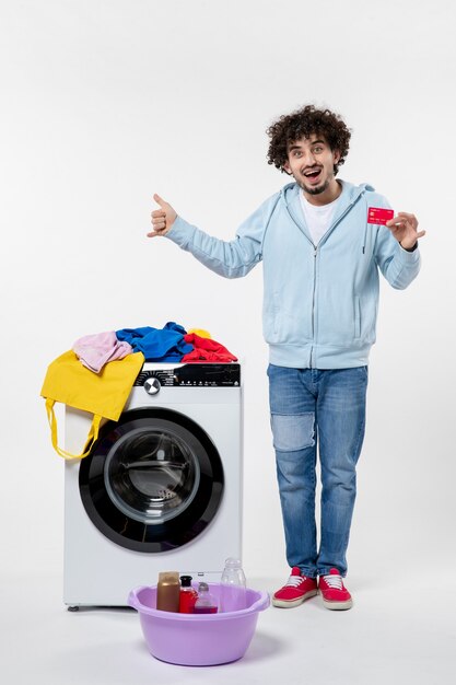
[[[142,352],[127,355],[103,367],[94,373],[83,367],[77,355],[69,350],[57,357],[48,367],[42,387],[46,399],[46,411],[50,426],[50,438],[57,454],[65,458],[83,458],[90,454],[98,438],[102,418],[117,421],[127,403],[131,387],[144,363]],[[93,414],[92,425],[82,454],[71,454],[58,445],[56,402]]]

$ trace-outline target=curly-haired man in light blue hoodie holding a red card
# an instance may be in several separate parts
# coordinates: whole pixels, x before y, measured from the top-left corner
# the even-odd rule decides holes
[[[420,267],[418,221],[385,222],[386,199],[336,175],[350,131],[339,115],[307,105],[269,129],[268,163],[294,178],[223,242],[154,195],[153,237],[166,235],[227,278],[264,264],[264,333],[277,475],[291,574],[272,603],[317,594],[347,609],[346,552],[355,466],[365,423],[369,351],[375,341],[378,270],[397,289]],[[391,212],[393,213],[393,212]],[[316,455],[321,472],[320,543],[315,522]],[[317,580],[318,579],[318,580]]]

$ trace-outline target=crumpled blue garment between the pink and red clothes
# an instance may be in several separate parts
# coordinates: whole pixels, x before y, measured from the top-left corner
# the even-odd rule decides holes
[[[194,349],[184,340],[186,330],[175,322],[168,322],[163,328],[124,328],[116,330],[119,340],[126,340],[136,352],[142,352],[145,361],[180,361],[184,355]]]

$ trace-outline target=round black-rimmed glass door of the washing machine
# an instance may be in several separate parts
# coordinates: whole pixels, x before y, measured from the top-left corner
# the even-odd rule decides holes
[[[200,535],[223,496],[223,467],[206,431],[167,409],[107,422],[81,461],[79,486],[96,527],[128,549],[159,553]]]

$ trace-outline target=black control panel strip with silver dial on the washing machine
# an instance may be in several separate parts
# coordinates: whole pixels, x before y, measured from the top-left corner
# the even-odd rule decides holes
[[[145,364],[147,365],[147,364]],[[150,394],[160,386],[174,387],[238,387],[241,364],[183,364],[176,369],[143,369],[135,385],[143,385]]]

